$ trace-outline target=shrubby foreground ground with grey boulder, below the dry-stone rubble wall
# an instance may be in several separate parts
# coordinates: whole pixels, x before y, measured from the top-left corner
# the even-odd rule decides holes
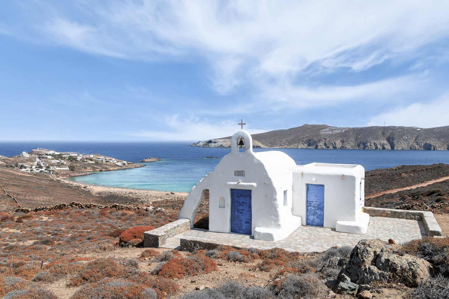
[[[311,254],[139,247],[145,230],[176,219],[172,212],[1,213],[0,297],[439,299],[449,292],[449,238],[366,240]]]

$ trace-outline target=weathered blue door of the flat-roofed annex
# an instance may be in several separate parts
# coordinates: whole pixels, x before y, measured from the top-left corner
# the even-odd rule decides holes
[[[307,184],[306,224],[324,225],[324,185]]]

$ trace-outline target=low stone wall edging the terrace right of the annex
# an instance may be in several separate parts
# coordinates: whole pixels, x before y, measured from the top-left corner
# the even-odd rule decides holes
[[[396,210],[383,209],[374,207],[363,207],[363,211],[373,217],[389,217],[423,221],[428,237],[441,236],[440,225],[436,222],[432,212],[413,211],[413,210]]]

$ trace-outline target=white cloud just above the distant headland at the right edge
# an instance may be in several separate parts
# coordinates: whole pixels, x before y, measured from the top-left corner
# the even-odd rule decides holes
[[[396,107],[390,112],[373,116],[367,125],[415,126],[431,128],[449,125],[449,94],[432,102],[414,103],[406,107]]]

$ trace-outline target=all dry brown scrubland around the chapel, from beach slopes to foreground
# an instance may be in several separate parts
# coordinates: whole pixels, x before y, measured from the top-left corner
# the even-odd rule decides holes
[[[402,172],[396,168],[374,170],[367,173],[367,180],[379,178],[370,173],[383,173],[389,179],[367,189],[376,192],[404,187],[402,177],[415,183],[420,173],[423,179],[435,179],[445,175],[447,166],[440,166],[402,166]],[[430,170],[431,174],[426,174]],[[444,202],[449,187],[446,181],[438,184],[412,189],[407,195],[412,202]],[[143,231],[177,219],[185,194],[93,187],[4,167],[0,167],[0,186],[0,297],[9,293],[8,298],[51,299],[88,295],[159,299],[448,298],[449,238],[407,245],[364,241],[355,248],[333,248],[319,254],[228,246],[194,253],[145,250],[139,248]],[[431,192],[432,188],[439,188],[440,193]],[[403,194],[385,196],[389,199],[375,197],[366,203],[386,206],[392,201],[397,205]],[[71,201],[122,205],[58,205],[14,212],[18,205],[36,208]],[[149,208],[136,210],[137,206]],[[206,194],[196,227],[207,228],[207,208]],[[444,212],[447,210],[436,214],[436,219],[447,236],[449,214]]]

